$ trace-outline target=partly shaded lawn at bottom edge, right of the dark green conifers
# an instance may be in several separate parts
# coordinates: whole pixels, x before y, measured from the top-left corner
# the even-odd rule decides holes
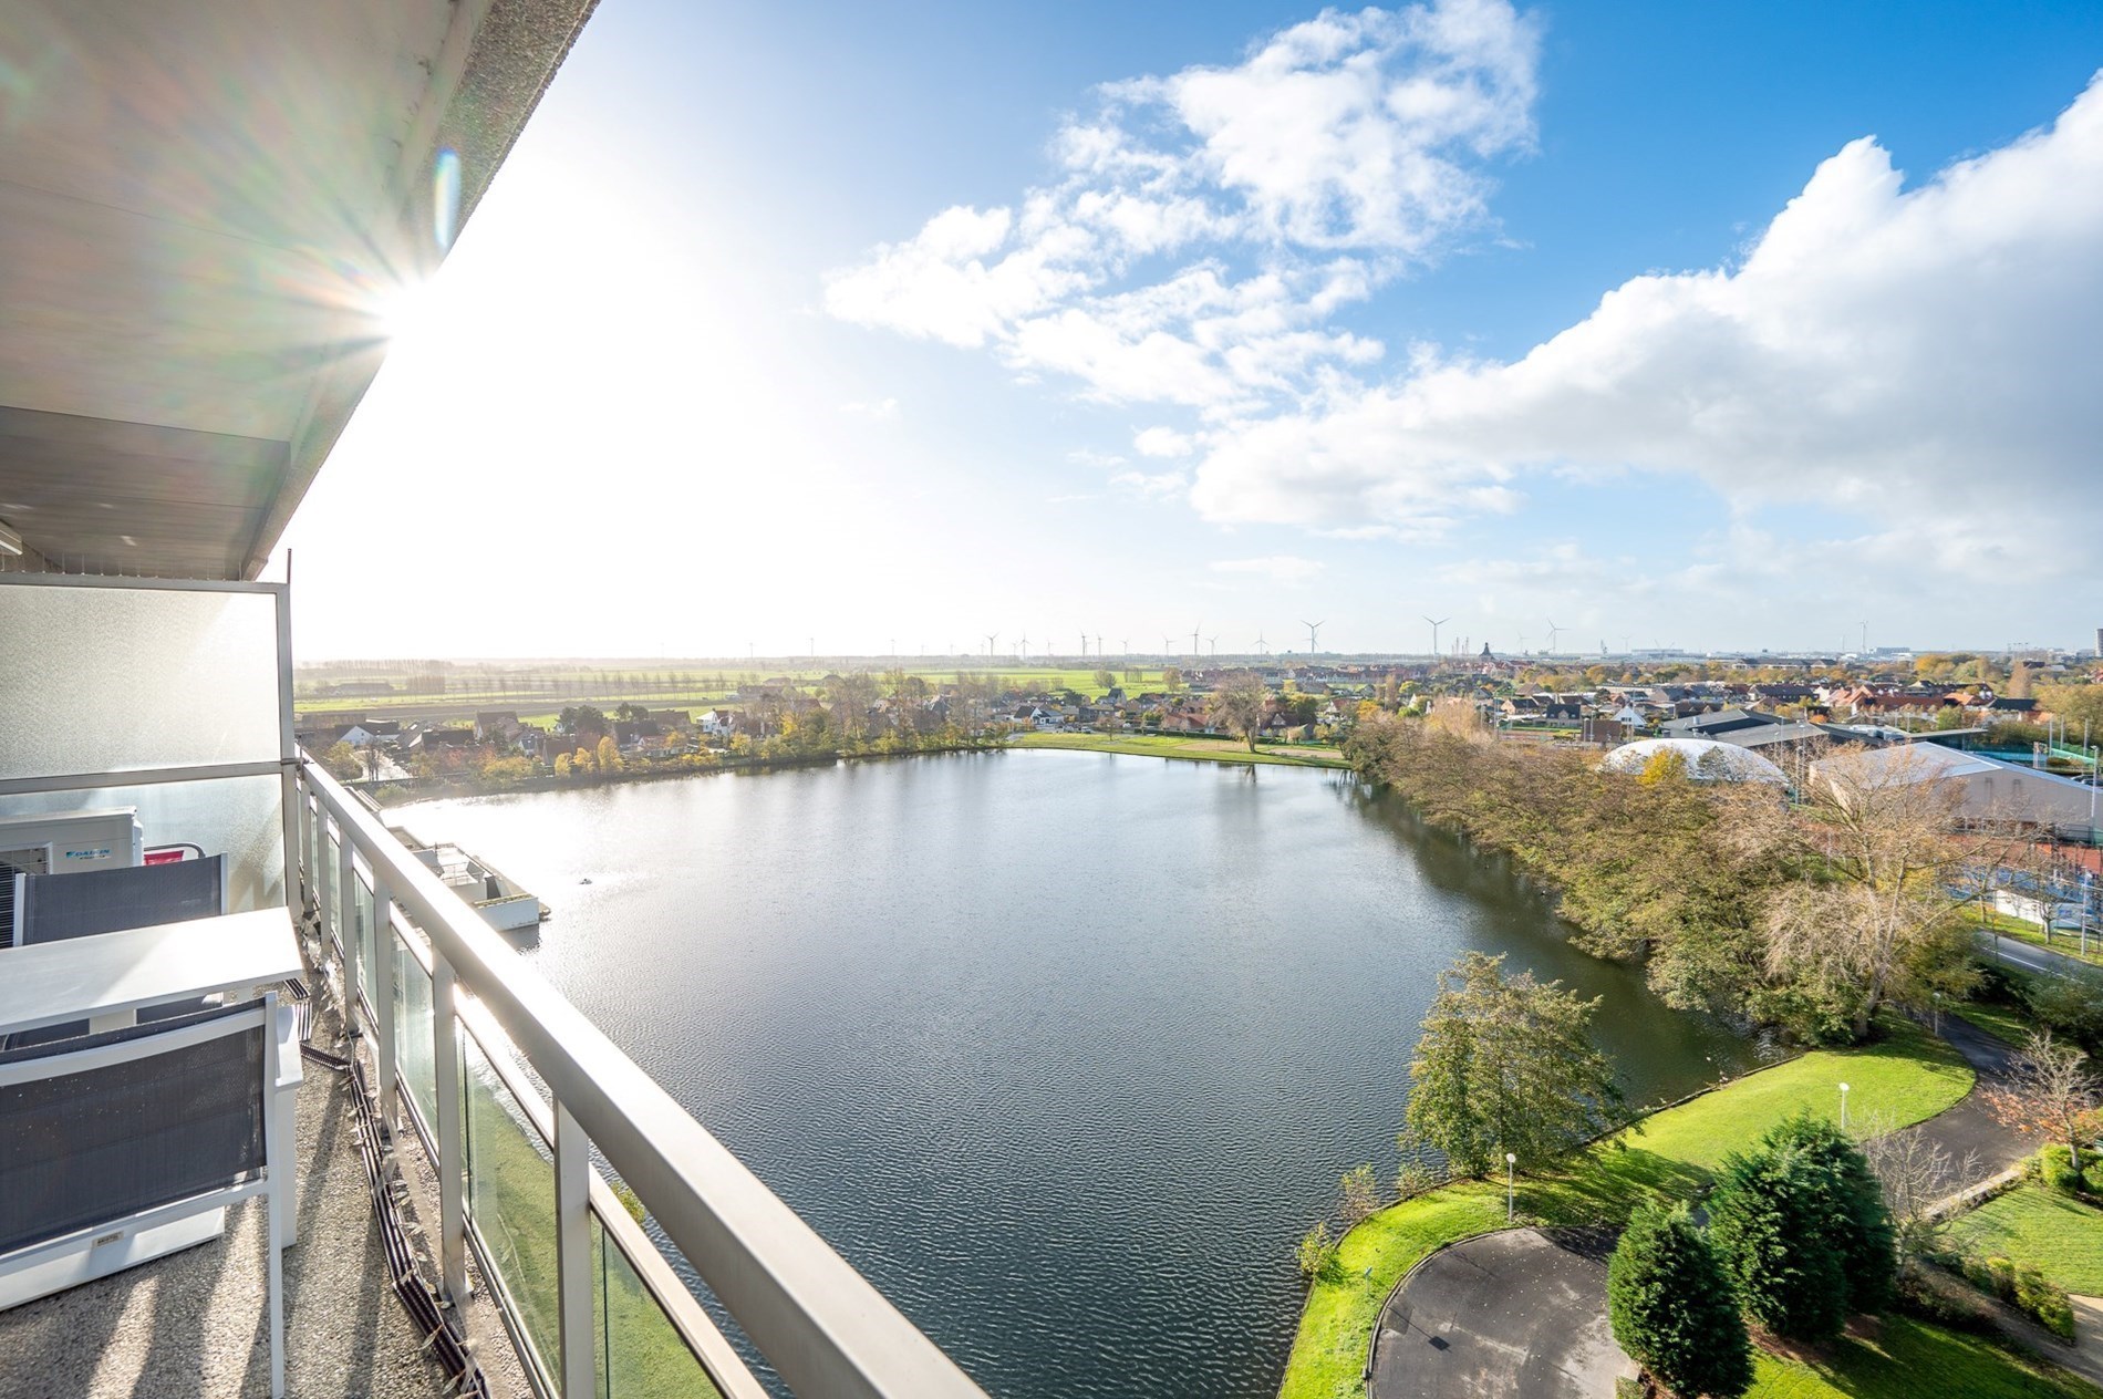
[[[1844,1336],[1815,1363],[1754,1351],[1745,1399],[2095,1399],[2095,1386],[1983,1336],[1882,1317],[1876,1338]]]

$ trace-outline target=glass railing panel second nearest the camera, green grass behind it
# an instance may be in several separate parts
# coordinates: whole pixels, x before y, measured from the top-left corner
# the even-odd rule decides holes
[[[555,1281],[555,1157],[465,1031],[467,1220],[482,1239],[484,1266],[496,1275],[511,1317],[540,1355],[545,1374],[562,1374],[559,1288]]]

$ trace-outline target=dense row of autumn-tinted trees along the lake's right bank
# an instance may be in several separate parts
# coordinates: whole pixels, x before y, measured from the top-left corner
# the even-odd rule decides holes
[[[1966,995],[1964,881],[2027,852],[2021,820],[1958,823],[1954,785],[1903,757],[1804,755],[1790,804],[1767,783],[1687,780],[1699,774],[1670,759],[1615,774],[1590,753],[1499,745],[1466,701],[1373,715],[1344,753],[1554,888],[1573,942],[1640,959],[1668,1006],[1819,1043],[1867,1037],[1886,1003]]]

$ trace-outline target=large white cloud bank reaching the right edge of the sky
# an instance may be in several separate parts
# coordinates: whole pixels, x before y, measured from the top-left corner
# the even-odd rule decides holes
[[[1916,189],[1855,141],[1741,265],[1634,278],[1518,362],[1333,381],[1220,435],[1190,499],[1218,522],[1422,526],[1510,509],[1529,469],[1640,469],[1884,518],[1880,549],[1983,576],[2008,560],[1966,543],[1981,513],[2095,511],[2099,320],[2103,78]]]

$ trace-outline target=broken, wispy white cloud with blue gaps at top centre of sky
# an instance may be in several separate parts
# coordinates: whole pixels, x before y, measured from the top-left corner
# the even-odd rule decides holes
[[[1430,0],[1104,84],[1052,183],[879,244],[824,307],[1104,402],[1264,412],[1375,362],[1325,322],[1485,223],[1485,162],[1533,139],[1535,48],[1510,0]]]

